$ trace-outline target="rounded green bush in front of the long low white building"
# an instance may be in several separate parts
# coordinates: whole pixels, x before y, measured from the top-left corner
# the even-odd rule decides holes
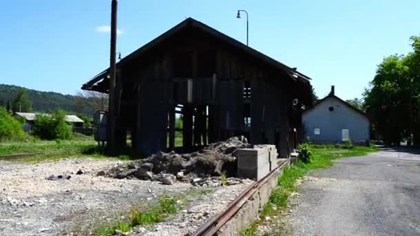
[[[55,110],[52,115],[37,115],[34,134],[41,139],[70,139],[72,134],[65,118],[63,110]]]

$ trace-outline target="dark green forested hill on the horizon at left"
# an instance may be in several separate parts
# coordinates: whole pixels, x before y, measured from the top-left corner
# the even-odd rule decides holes
[[[10,86],[0,84],[0,106],[6,106],[7,101],[10,103],[15,99],[19,86]],[[23,88],[28,93],[28,97],[32,100],[32,108],[35,112],[49,112],[61,108],[68,112],[75,112],[75,96],[62,95],[58,92],[41,92]]]

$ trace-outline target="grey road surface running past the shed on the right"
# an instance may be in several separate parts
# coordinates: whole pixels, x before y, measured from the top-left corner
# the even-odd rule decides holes
[[[293,235],[420,235],[420,153],[339,159],[298,193],[285,219]]]

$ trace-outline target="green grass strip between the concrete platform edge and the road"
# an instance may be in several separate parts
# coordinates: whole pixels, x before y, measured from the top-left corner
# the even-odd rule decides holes
[[[240,235],[251,236],[255,235],[260,224],[266,216],[276,215],[287,207],[287,199],[291,193],[296,192],[296,181],[306,175],[309,170],[316,170],[332,166],[333,160],[341,157],[355,157],[366,155],[376,151],[376,148],[366,146],[353,146],[350,148],[346,144],[341,145],[321,145],[321,144],[307,144],[305,148],[312,153],[309,162],[305,163],[298,160],[293,166],[286,167],[283,170],[277,184],[278,187],[273,190],[269,198],[269,202],[260,212],[260,220],[254,222],[246,230],[242,231]]]

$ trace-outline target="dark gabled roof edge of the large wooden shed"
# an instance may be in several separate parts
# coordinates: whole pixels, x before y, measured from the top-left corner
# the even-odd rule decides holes
[[[270,66],[274,66],[275,68],[285,71],[287,75],[290,76],[291,79],[298,79],[300,81],[305,81],[305,82],[307,82],[310,79],[306,75],[303,75],[302,73],[298,72],[296,68],[289,68],[289,66],[286,66],[285,64],[280,63],[279,61],[276,61],[275,59],[272,59],[271,57],[268,57],[267,55],[264,55],[261,52],[258,52],[257,50],[254,50],[253,48],[250,48],[249,46],[246,46],[240,41],[233,39],[223,34],[222,32],[219,32],[218,30],[215,30],[211,28],[210,26],[207,26],[206,24],[201,23],[200,21],[197,21],[191,17],[185,19],[181,23],[178,23],[178,25],[164,32],[162,35],[153,39],[149,43],[146,43],[144,46],[135,50],[127,57],[124,57],[123,59],[121,59],[121,61],[117,63],[117,68],[120,68],[121,66],[126,64],[128,61],[131,61],[132,59],[141,57],[142,55],[144,55],[145,52],[152,50],[159,43],[162,43],[164,40],[172,37],[177,32],[180,32],[180,30],[183,30],[184,28],[197,28],[199,30],[202,30],[202,32],[212,35],[213,37],[216,37],[217,39],[220,39],[221,41],[228,43],[230,46],[237,48],[238,50],[242,50],[243,52],[247,53],[248,55],[251,55],[252,57],[256,57],[257,59],[260,59],[261,61],[267,63]],[[99,81],[107,79],[108,74],[109,74],[109,68],[100,72],[98,75],[93,77],[93,79],[90,79],[90,81],[88,81],[87,83],[84,83],[84,85],[82,86],[82,89],[92,90],[93,86],[95,86],[95,84],[97,84]]]

